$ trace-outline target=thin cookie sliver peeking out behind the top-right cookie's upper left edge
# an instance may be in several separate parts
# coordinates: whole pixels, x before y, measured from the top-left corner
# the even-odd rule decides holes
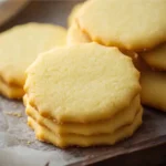
[[[83,2],[75,4],[74,8],[72,9],[70,15],[68,17],[68,25],[69,27],[71,27],[73,24],[73,22],[75,21],[75,17],[79,13],[79,10],[81,9],[82,6],[83,6]]]

